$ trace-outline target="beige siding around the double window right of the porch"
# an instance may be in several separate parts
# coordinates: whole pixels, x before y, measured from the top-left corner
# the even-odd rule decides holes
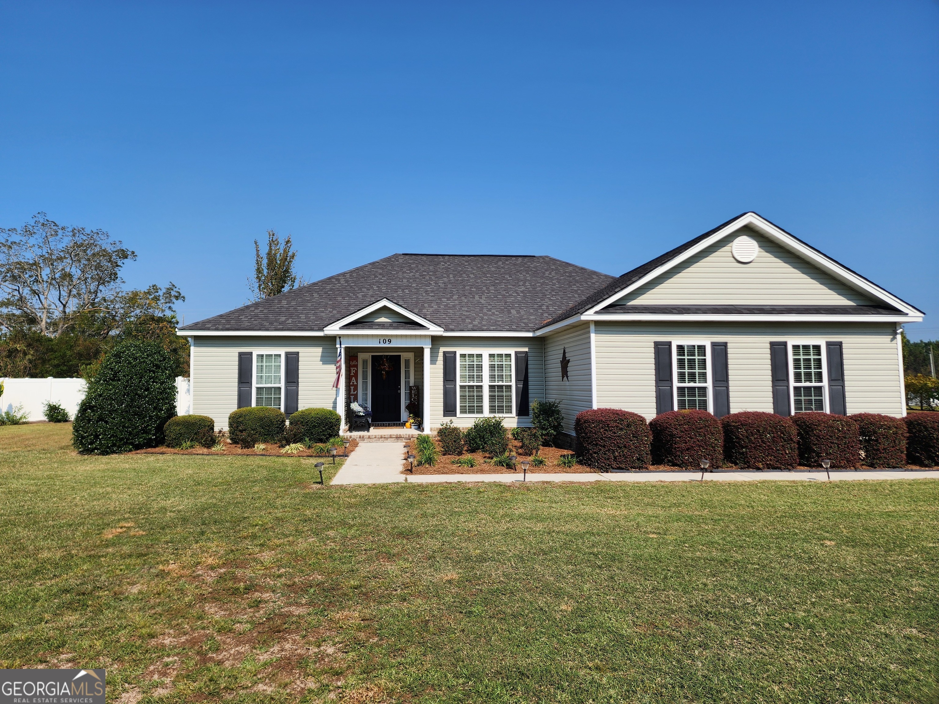
[[[545,398],[545,369],[542,354],[542,342],[531,337],[435,337],[430,347],[430,428],[436,430],[445,421],[454,421],[455,425],[468,428],[476,417],[443,417],[443,350],[458,352],[518,351],[529,354],[529,404],[535,399]],[[458,362],[457,362],[458,363]],[[484,358],[485,364],[485,358]],[[515,378],[513,378],[513,387]],[[515,390],[513,389],[513,393]],[[458,391],[457,391],[458,394]],[[458,395],[457,395],[458,403]],[[531,426],[531,415],[505,419],[505,427]]]

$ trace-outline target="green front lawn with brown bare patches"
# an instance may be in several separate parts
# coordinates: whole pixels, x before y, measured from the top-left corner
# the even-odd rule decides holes
[[[318,487],[312,464],[0,427],[0,666],[106,667],[128,702],[933,700],[937,481]]]

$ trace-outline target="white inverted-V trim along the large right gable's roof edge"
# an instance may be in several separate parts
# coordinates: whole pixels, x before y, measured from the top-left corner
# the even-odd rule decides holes
[[[793,252],[801,256],[803,259],[807,260],[808,262],[811,262],[816,267],[822,269],[825,273],[838,279],[840,282],[846,283],[847,285],[851,286],[855,290],[861,291],[862,293],[867,294],[871,298],[875,298],[890,306],[893,306],[894,308],[899,309],[901,312],[906,314],[906,317],[904,319],[907,322],[911,322],[911,323],[917,322],[913,319],[916,316],[918,316],[920,320],[922,319],[922,315],[923,315],[922,311],[914,308],[909,303],[902,301],[900,298],[897,298],[896,296],[889,293],[888,291],[885,291],[880,286],[870,283],[867,279],[864,279],[863,277],[858,276],[853,271],[849,271],[847,268],[842,267],[838,262],[834,261],[833,259],[829,259],[824,254],[818,253],[815,250],[812,250],[811,248],[809,248],[802,242],[798,241],[795,237],[793,237],[789,233],[783,230],[780,230],[772,222],[763,220],[756,213],[747,213],[746,215],[742,215],[741,217],[737,218],[735,221],[731,222],[730,224],[725,225],[724,227],[717,230],[717,232],[711,237],[706,237],[705,239],[701,240],[698,244],[696,244],[694,247],[691,247],[686,252],[679,254],[673,259],[670,259],[670,261],[666,262],[661,267],[654,268],[648,274],[646,274],[641,279],[639,279],[639,281],[631,283],[630,285],[623,288],[623,290],[617,291],[615,294],[613,294],[609,298],[606,298],[600,301],[599,303],[594,305],[591,309],[586,311],[585,314],[588,314],[588,315],[594,314],[600,309],[606,308],[611,303],[615,303],[620,298],[623,298],[623,296],[626,296],[632,291],[635,291],[637,288],[639,288],[639,286],[653,281],[655,278],[661,276],[666,271],[669,271],[671,268],[677,267],[679,264],[681,264],[685,260],[695,256],[696,254],[700,253],[702,250],[710,247],[717,240],[723,239],[724,237],[731,235],[732,233],[736,232],[742,227],[752,227],[754,230],[759,232],[764,237],[768,237],[769,239],[773,240],[781,247],[785,247],[790,252]],[[778,319],[778,318],[774,318],[774,319]]]

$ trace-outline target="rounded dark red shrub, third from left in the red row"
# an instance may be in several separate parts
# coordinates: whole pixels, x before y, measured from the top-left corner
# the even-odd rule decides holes
[[[775,413],[744,411],[720,419],[724,459],[743,469],[794,469],[799,438],[792,419]]]

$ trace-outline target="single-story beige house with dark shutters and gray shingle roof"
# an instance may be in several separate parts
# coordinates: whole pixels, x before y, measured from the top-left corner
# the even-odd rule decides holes
[[[192,323],[192,412],[349,405],[425,430],[531,402],[903,416],[923,313],[754,212],[620,277],[549,256],[393,254]],[[337,361],[338,360],[338,361]]]

